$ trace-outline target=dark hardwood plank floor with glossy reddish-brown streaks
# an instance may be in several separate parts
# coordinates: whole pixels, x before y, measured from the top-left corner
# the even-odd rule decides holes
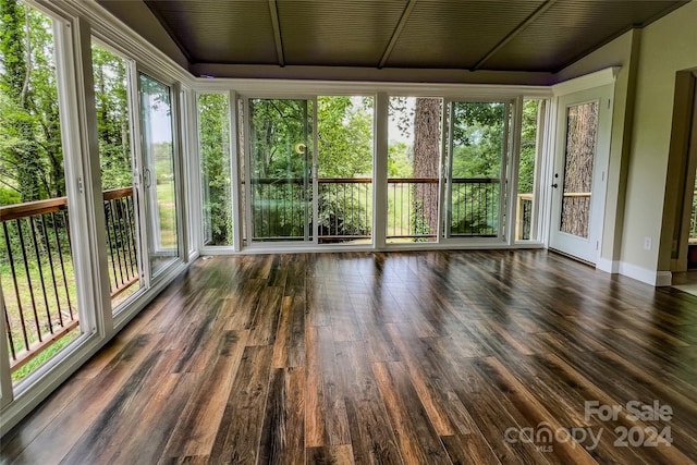
[[[696,360],[697,296],[543,250],[216,257],[2,461],[688,464]]]

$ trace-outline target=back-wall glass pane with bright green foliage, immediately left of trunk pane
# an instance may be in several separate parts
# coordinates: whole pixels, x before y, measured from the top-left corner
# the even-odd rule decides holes
[[[370,242],[372,108],[372,97],[317,98],[320,243]]]

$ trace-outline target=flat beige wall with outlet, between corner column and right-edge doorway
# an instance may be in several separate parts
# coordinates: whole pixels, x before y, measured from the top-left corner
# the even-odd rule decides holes
[[[697,1],[650,24],[641,34],[621,249],[622,261],[637,270],[661,271],[659,240],[675,74],[690,68],[697,68]],[[648,250],[644,247],[645,237],[651,238]]]

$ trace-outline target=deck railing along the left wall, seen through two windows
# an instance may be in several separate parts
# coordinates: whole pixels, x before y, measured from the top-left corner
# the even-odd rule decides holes
[[[111,295],[138,280],[133,189],[106,191]],[[0,207],[2,279],[14,372],[78,326],[68,198]]]

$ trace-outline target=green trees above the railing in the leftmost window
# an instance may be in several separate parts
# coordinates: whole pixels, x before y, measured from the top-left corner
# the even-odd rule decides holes
[[[0,172],[20,201],[64,195],[51,20],[0,0]],[[5,196],[7,197],[7,196]]]

